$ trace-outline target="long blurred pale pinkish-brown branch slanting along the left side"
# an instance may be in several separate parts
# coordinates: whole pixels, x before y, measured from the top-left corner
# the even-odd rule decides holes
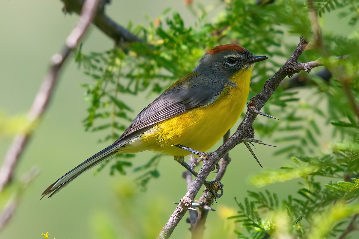
[[[6,153],[5,160],[0,169],[0,191],[3,190],[4,187],[11,181],[19,158],[24,151],[29,138],[32,136],[33,126],[42,116],[48,106],[48,103],[50,102],[61,66],[71,53],[71,50],[76,47],[80,39],[85,34],[90,22],[93,19],[98,3],[99,0],[85,1],[80,19],[76,27],[67,37],[64,49],[62,49],[61,53],[52,56],[49,73],[44,78],[28,113],[29,127],[24,132],[19,132],[15,136],[8,152]]]

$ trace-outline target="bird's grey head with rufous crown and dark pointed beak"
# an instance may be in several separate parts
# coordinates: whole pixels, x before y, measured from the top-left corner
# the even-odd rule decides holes
[[[261,55],[253,55],[249,50],[239,45],[220,45],[208,50],[194,71],[219,74],[229,78],[239,70],[251,70],[253,63],[267,58]]]

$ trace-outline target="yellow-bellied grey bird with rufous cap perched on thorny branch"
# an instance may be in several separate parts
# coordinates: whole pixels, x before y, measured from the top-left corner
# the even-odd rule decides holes
[[[185,156],[208,151],[233,127],[247,102],[254,63],[267,58],[236,44],[206,51],[195,69],[145,107],[112,145],[60,177],[42,197],[116,153],[166,153],[196,175]]]

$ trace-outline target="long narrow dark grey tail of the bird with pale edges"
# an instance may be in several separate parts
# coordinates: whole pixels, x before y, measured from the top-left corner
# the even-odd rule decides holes
[[[47,189],[41,194],[41,198],[49,194],[50,196],[48,197],[51,197],[83,172],[91,169],[92,167],[100,164],[107,158],[113,156],[117,152],[117,148],[118,143],[114,143],[113,145],[110,145],[107,148],[96,153],[94,156],[88,158],[87,160],[76,166],[74,169],[67,172],[64,176],[60,177],[58,180],[56,180],[56,182],[48,186]]]

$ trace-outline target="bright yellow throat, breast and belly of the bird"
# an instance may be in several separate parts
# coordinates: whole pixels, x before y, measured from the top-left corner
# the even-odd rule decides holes
[[[251,69],[238,72],[230,79],[237,87],[227,86],[210,105],[160,122],[144,132],[135,147],[138,150],[133,149],[153,150],[173,156],[190,154],[174,145],[183,145],[202,152],[208,151],[233,127],[241,115],[249,93],[251,73]]]

